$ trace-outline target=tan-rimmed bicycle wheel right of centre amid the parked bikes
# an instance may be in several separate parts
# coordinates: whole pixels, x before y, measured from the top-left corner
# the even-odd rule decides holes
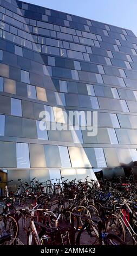
[[[83,206],[83,205],[75,206],[71,210],[70,215],[69,215],[70,224],[71,224],[71,214],[72,213],[79,215],[79,227],[77,227],[77,219],[74,218],[74,228],[76,230],[80,230],[82,228],[83,224],[84,224],[83,221],[82,221],[82,218],[81,218],[83,215],[86,215],[86,216],[89,216],[89,217],[91,216],[89,210],[85,206]]]

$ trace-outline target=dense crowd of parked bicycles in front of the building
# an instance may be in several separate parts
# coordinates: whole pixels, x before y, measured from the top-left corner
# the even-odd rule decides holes
[[[21,179],[1,199],[0,244],[137,245],[137,186],[134,177],[89,180]]]

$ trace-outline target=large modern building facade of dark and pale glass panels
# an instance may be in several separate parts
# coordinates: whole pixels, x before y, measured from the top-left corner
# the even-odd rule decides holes
[[[137,39],[132,31],[0,0],[0,168],[8,179],[136,173]],[[63,129],[42,130],[41,123]],[[77,130],[65,113],[76,112]],[[83,111],[98,113],[88,136]],[[87,117],[87,115],[86,115]]]

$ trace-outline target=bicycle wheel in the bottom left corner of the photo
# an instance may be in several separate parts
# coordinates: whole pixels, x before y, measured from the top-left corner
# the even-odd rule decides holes
[[[13,245],[18,236],[18,230],[18,223],[14,217],[8,216],[0,218],[0,235],[2,235],[3,231],[11,235],[11,240],[4,242],[3,245]]]

